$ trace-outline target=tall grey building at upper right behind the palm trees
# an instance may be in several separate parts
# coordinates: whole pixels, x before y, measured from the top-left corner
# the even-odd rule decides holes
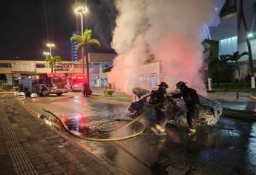
[[[255,13],[253,10],[254,0],[243,1],[243,11],[246,19],[246,24],[249,33],[253,35],[249,38],[252,47],[252,59],[256,59],[256,26],[255,26]],[[220,24],[217,27],[211,27],[211,39],[218,42],[218,55],[233,54],[248,52],[246,43],[246,37],[249,33],[246,33],[243,27],[243,23],[240,25],[240,1],[237,0],[226,0],[226,4],[223,10],[220,12]],[[254,61],[255,62],[255,61]],[[255,64],[254,64],[255,65]],[[249,73],[249,56],[243,56],[239,60],[240,66],[240,77],[238,76],[237,70],[235,72],[236,78],[244,78]],[[256,66],[255,70],[256,70]]]

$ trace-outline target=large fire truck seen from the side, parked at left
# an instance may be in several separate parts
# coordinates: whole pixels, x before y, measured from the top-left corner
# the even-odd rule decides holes
[[[63,73],[44,73],[33,80],[30,76],[19,79],[19,91],[30,96],[31,93],[37,93],[39,96],[47,96],[55,93],[61,96],[62,93],[68,93],[68,78]]]

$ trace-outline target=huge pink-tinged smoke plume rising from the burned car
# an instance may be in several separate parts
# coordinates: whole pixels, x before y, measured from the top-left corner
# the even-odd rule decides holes
[[[158,79],[170,89],[184,81],[203,91],[203,26],[215,20],[217,6],[223,5],[220,0],[116,0],[115,4],[118,15],[111,45],[118,56],[109,82],[130,93],[140,86],[142,65],[160,62]]]

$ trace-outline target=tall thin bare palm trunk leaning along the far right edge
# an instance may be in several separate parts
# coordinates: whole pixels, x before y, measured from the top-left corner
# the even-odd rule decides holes
[[[249,65],[250,65],[250,72],[252,76],[252,88],[253,85],[255,85],[255,72],[253,69],[253,61],[252,61],[252,47],[249,38],[247,37],[247,34],[249,33],[247,24],[246,24],[246,17],[244,16],[244,11],[243,11],[243,0],[240,0],[240,5],[239,5],[239,12],[238,12],[238,30],[241,29],[241,23],[243,22],[243,27],[246,33],[246,43],[248,47],[248,56],[249,56]]]

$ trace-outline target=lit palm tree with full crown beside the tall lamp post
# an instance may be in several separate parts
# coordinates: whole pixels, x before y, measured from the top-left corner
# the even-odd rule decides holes
[[[93,30],[86,29],[83,33],[83,36],[75,35],[70,38],[71,43],[78,42],[76,49],[79,50],[80,48],[83,48],[85,46],[88,48],[88,46],[96,46],[100,47],[100,43],[98,39],[92,39],[93,36]],[[90,87],[90,81],[89,81],[89,62],[88,62],[88,50],[86,49],[85,52],[86,55],[86,73],[87,73],[87,83],[88,87]],[[84,58],[82,58],[84,59]],[[83,70],[84,71],[84,70]]]

